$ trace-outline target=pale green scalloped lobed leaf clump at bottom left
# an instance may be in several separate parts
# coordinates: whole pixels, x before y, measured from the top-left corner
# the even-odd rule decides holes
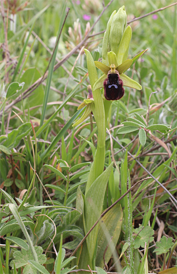
[[[47,258],[46,258],[46,255],[42,254],[43,249],[38,246],[35,246],[34,249],[37,254],[39,264],[45,263]],[[24,249],[22,249],[21,251],[15,251],[13,254],[13,257],[15,260],[12,260],[10,263],[12,268],[14,268],[14,262],[15,262],[16,268],[25,266],[23,269],[23,274],[28,274],[28,273],[37,274],[36,268],[28,262],[29,260],[33,260],[33,255],[30,249],[28,251]]]

